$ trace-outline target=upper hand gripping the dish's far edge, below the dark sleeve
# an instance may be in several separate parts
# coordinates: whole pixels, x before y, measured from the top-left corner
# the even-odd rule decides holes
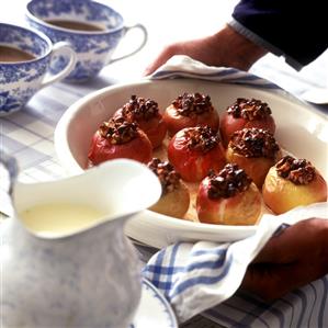
[[[214,35],[168,45],[146,68],[144,75],[150,75],[174,55],[186,55],[210,66],[226,66],[248,70],[255,61],[265,54],[264,48],[253,44],[229,25],[226,25]]]

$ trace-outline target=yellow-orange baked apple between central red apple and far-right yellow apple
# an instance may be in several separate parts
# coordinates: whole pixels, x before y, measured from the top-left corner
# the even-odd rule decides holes
[[[261,189],[269,169],[281,158],[281,149],[273,135],[262,128],[242,128],[233,134],[226,158],[236,162]]]

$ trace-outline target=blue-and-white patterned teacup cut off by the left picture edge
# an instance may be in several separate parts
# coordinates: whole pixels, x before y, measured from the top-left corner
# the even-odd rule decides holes
[[[55,55],[67,58],[67,65],[56,75],[47,73]],[[36,91],[64,79],[75,65],[69,44],[53,46],[38,31],[0,23],[0,116],[22,109]]]

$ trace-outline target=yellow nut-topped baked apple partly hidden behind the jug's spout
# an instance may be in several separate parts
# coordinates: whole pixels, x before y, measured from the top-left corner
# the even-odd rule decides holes
[[[190,194],[180,174],[169,161],[154,158],[148,168],[158,177],[161,183],[161,196],[149,210],[182,218],[190,204]]]

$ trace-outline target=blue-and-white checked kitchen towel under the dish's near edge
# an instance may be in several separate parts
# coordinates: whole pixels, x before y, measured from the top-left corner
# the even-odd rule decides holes
[[[269,238],[278,229],[309,217],[328,219],[328,203],[297,207],[279,216],[264,214],[256,234],[239,241],[170,245],[150,258],[144,276],[165,294],[183,323],[234,295],[248,264]],[[323,301],[326,298],[323,294]],[[328,324],[327,315],[326,320]]]

